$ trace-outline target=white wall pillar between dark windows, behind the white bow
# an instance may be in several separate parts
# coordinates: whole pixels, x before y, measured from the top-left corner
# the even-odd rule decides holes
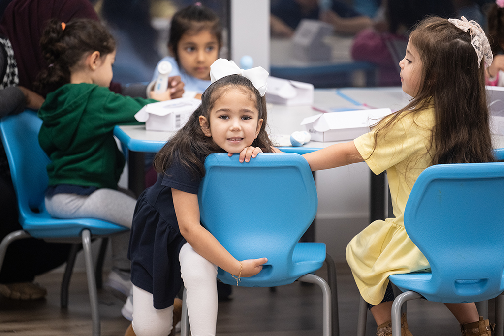
[[[240,64],[244,55],[254,59],[254,66],[270,70],[269,0],[231,0],[231,59]]]

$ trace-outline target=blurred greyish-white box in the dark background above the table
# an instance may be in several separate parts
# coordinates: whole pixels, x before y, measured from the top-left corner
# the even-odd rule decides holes
[[[333,26],[319,20],[303,19],[292,38],[292,54],[305,62],[328,61],[332,50],[324,43],[324,37],[333,33]]]

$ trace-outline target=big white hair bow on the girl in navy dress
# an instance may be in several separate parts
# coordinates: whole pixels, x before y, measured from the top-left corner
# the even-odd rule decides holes
[[[240,75],[245,77],[252,82],[252,85],[254,85],[256,89],[258,89],[261,97],[264,97],[266,94],[266,88],[268,87],[266,79],[270,74],[265,69],[261,68],[261,66],[243,70],[240,69],[235,62],[225,58],[219,58],[210,65],[210,80],[212,83],[229,75]]]

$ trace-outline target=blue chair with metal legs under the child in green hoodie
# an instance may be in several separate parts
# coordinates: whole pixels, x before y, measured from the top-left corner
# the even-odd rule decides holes
[[[18,115],[8,116],[0,120],[0,132],[4,143],[12,182],[18,198],[19,222],[23,230],[7,235],[0,243],[0,269],[9,244],[17,239],[34,237],[47,241],[78,242],[82,241],[89,299],[91,302],[91,317],[93,321],[93,336],[100,334],[100,316],[98,313],[98,297],[95,272],[91,254],[91,236],[108,236],[128,228],[96,219],[55,219],[47,213],[44,206],[44,192],[47,188],[46,165],[50,162],[38,143],[38,132],[42,120],[32,111],[24,111]],[[74,245],[76,246],[76,245]],[[77,249],[74,249],[74,258]],[[61,287],[62,304],[65,287],[73,268],[72,258],[69,258],[64,283]]]

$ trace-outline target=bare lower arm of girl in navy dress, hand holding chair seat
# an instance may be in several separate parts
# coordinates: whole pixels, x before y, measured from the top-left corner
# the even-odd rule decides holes
[[[240,274],[240,262],[200,224],[198,195],[173,188],[171,193],[178,227],[185,240],[205,259],[216,264],[224,271],[238,276]],[[267,261],[267,258],[242,260],[241,277],[251,277],[258,274],[263,268],[261,265]]]

